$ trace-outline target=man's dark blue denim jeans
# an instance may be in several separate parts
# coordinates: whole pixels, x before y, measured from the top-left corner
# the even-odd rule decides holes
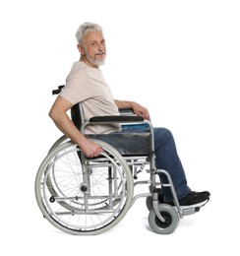
[[[146,132],[148,128],[141,125],[123,125],[122,133]],[[178,157],[176,145],[172,133],[166,128],[153,128],[155,165],[157,169],[166,170],[172,179],[178,199],[186,196],[191,189],[187,185],[187,179]],[[166,176],[159,174],[161,183],[167,183]],[[169,187],[162,186],[162,194],[165,202],[172,201]]]

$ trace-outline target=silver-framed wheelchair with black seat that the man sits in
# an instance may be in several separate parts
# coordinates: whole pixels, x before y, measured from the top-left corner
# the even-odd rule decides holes
[[[52,94],[59,94],[63,87]],[[42,160],[34,185],[38,207],[50,224],[70,234],[99,234],[118,224],[135,201],[145,197],[150,228],[168,234],[184,215],[198,212],[180,208],[170,175],[156,169],[149,121],[134,115],[131,109],[120,109],[119,116],[96,116],[86,121],[81,103],[71,108],[71,118],[83,134],[88,125],[106,123],[145,124],[149,131],[88,135],[103,149],[93,159],[66,136],[59,138]],[[138,181],[138,175],[145,171],[150,178]],[[168,183],[157,181],[159,173],[166,175]],[[147,193],[135,195],[136,186],[143,184],[148,185]],[[162,186],[170,187],[175,206],[159,202]]]

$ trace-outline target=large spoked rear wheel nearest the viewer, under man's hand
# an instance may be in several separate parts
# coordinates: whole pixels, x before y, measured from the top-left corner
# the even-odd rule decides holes
[[[86,159],[73,142],[53,147],[35,177],[35,197],[43,216],[71,234],[98,234],[118,224],[133,198],[129,166],[110,145]]]

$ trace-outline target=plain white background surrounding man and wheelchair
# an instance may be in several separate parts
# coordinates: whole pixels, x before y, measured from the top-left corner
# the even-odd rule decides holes
[[[232,0],[1,1],[1,255],[239,254],[239,14]],[[36,205],[37,168],[61,135],[51,91],[79,59],[86,21],[103,27],[115,98],[146,105],[174,134],[191,188],[210,190],[172,234],[150,230],[143,199],[97,236],[59,231]]]

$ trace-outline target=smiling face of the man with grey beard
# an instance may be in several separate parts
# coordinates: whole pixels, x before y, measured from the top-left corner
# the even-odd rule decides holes
[[[105,39],[100,32],[88,32],[85,35],[83,47],[80,52],[82,56],[89,62],[90,66],[101,66],[104,64],[106,56]]]

